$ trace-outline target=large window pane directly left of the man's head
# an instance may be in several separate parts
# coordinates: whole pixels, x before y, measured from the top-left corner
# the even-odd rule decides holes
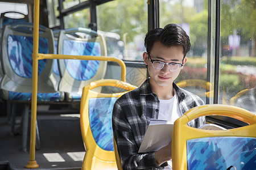
[[[109,56],[143,61],[147,1],[116,0],[99,5],[97,23],[105,34]]]

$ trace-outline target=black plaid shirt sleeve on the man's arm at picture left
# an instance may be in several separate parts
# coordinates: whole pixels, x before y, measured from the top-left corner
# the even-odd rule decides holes
[[[162,169],[156,164],[155,152],[138,153],[139,146],[135,142],[136,135],[134,135],[118,101],[113,107],[112,124],[123,169]]]

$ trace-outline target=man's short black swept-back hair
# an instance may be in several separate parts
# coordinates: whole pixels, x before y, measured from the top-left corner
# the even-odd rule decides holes
[[[167,24],[164,28],[156,28],[148,31],[144,40],[147,53],[151,52],[153,45],[157,41],[160,41],[167,47],[182,46],[184,57],[191,47],[189,36],[177,24]]]

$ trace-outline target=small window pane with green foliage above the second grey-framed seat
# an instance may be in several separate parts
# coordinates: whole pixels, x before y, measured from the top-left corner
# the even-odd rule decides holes
[[[88,28],[90,23],[89,17],[89,8],[69,14],[64,16],[64,27],[65,29],[77,27]]]

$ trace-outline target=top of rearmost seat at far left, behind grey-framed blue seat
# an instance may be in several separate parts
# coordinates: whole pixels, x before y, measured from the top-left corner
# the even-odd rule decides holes
[[[7,11],[1,13],[0,16],[0,29],[7,24],[14,24],[14,23],[27,23],[28,22],[28,15],[22,14],[21,12],[17,11]]]

